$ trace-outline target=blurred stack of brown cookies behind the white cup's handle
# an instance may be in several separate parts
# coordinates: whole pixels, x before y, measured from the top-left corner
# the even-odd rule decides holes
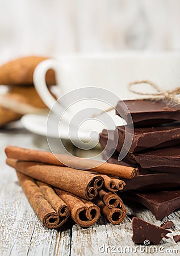
[[[0,94],[0,127],[15,121],[27,113],[41,113],[47,106],[41,101],[33,84],[33,72],[46,57],[22,57],[0,67],[0,86],[7,92]],[[47,72],[47,84],[55,85],[55,74]]]

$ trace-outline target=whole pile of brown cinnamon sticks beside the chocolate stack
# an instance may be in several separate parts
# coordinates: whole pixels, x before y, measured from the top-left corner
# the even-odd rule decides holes
[[[59,228],[69,217],[88,227],[101,213],[112,224],[124,220],[125,207],[115,192],[125,185],[119,177],[132,179],[137,168],[15,146],[5,152],[6,163],[16,170],[28,201],[47,228]]]

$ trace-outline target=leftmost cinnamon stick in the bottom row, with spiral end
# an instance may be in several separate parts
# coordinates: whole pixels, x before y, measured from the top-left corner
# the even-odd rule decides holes
[[[43,193],[40,191],[40,188],[35,183],[35,180],[17,171],[16,174],[25,195],[31,204],[31,207],[34,209],[43,225],[49,229],[56,229],[62,226],[65,219],[60,220],[58,213],[45,199]]]

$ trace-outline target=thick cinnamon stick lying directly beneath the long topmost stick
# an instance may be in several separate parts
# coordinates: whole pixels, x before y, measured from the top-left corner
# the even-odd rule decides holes
[[[7,158],[6,163],[36,180],[43,181],[87,200],[92,200],[103,185],[101,176],[87,171],[9,158]]]

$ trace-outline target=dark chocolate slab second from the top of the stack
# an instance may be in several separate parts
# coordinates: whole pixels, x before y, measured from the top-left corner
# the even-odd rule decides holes
[[[125,132],[124,126],[118,126],[117,151],[120,152],[123,147]],[[180,123],[174,122],[171,125],[162,125],[155,127],[136,127],[134,129],[132,145],[129,152],[137,152],[147,148],[171,147],[180,144]],[[124,144],[125,147],[125,144]]]

